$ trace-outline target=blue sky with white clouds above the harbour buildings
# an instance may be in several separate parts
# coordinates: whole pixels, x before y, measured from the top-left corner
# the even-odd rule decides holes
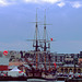
[[[78,54],[82,50],[81,0],[0,0],[0,50],[31,50],[35,33],[36,8],[38,21],[46,22],[51,51]],[[43,36],[43,26],[38,25]]]

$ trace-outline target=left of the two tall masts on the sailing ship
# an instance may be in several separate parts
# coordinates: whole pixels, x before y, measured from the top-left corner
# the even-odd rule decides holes
[[[38,39],[38,23],[39,22],[37,22],[37,9],[36,9],[36,22],[32,22],[32,23],[36,23],[35,24],[35,37],[34,37],[34,39],[27,39],[27,40],[33,40],[33,47],[35,48],[35,50],[34,50],[34,55],[35,55],[35,62],[36,62],[36,69],[38,68],[38,54],[39,54],[39,47],[40,47],[40,45],[39,45],[39,40],[43,40],[43,39]],[[32,51],[30,51],[30,52],[32,52]]]

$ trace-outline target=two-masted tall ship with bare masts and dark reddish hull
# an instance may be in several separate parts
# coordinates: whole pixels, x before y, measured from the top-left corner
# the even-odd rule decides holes
[[[33,71],[33,77],[39,77],[39,78],[45,78],[47,77],[47,79],[49,79],[49,74],[52,72],[54,74],[56,73],[56,63],[54,65],[55,67],[51,67],[51,60],[50,60],[50,42],[52,42],[52,38],[48,39],[47,38],[47,25],[50,24],[46,24],[46,10],[45,10],[45,16],[44,16],[44,24],[40,24],[44,26],[44,38],[39,38],[38,37],[38,21],[37,21],[37,10],[36,10],[36,22],[35,23],[35,38],[34,39],[27,39],[28,42],[32,40],[33,42],[33,47],[34,50],[30,50],[26,55],[25,55],[25,59],[27,59],[28,57],[31,57],[33,59],[32,65],[28,62],[28,60],[26,60],[28,62],[28,65],[31,65]],[[50,74],[51,75],[51,74]],[[52,79],[55,79],[54,77],[51,77]],[[50,78],[50,79],[51,79]]]

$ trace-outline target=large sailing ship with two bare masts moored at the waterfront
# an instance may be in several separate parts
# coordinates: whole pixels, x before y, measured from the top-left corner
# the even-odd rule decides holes
[[[56,80],[57,77],[50,74],[50,51],[49,51],[49,49],[50,49],[50,42],[52,42],[52,38],[51,38],[51,40],[46,39],[46,25],[47,25],[46,24],[46,14],[45,14],[45,23],[43,24],[44,25],[44,39],[38,39],[38,35],[37,35],[38,34],[37,33],[37,30],[38,30],[37,11],[36,11],[36,22],[34,22],[34,23],[36,23],[35,39],[32,39],[32,40],[33,40],[33,47],[35,48],[35,50],[30,51],[30,54],[33,54],[36,58],[36,60],[35,60],[36,68],[34,68],[33,65],[30,63],[28,59],[26,57],[24,57],[25,61],[32,69],[32,71],[27,72],[27,79]],[[30,40],[30,39],[27,39],[27,40]],[[44,70],[38,67],[38,63],[39,63],[38,55],[42,55],[44,58],[44,61],[42,62],[42,65],[44,65]],[[47,56],[48,56],[48,61],[49,61],[49,69],[47,69],[47,65],[46,65]],[[49,71],[49,73],[48,73],[48,71]]]

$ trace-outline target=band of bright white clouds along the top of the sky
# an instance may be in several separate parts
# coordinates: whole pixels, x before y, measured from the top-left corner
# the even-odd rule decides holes
[[[17,3],[50,3],[54,4],[56,3],[58,7],[62,8],[67,4],[71,4],[72,8],[81,8],[82,3],[81,1],[66,1],[66,0],[0,0],[0,7],[7,7],[7,5],[11,5],[11,4],[17,4]]]

